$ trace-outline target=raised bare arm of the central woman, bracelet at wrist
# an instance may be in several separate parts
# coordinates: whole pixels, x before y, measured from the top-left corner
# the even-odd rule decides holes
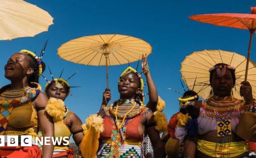
[[[158,102],[158,94],[156,90],[156,86],[153,82],[153,79],[151,77],[150,71],[149,71],[149,66],[147,63],[147,56],[143,55],[142,56],[143,62],[142,62],[142,71],[144,75],[146,76],[147,80],[147,88],[148,88],[148,96],[149,96],[149,101],[147,103],[147,108],[150,108],[152,112],[156,111],[156,105]]]

